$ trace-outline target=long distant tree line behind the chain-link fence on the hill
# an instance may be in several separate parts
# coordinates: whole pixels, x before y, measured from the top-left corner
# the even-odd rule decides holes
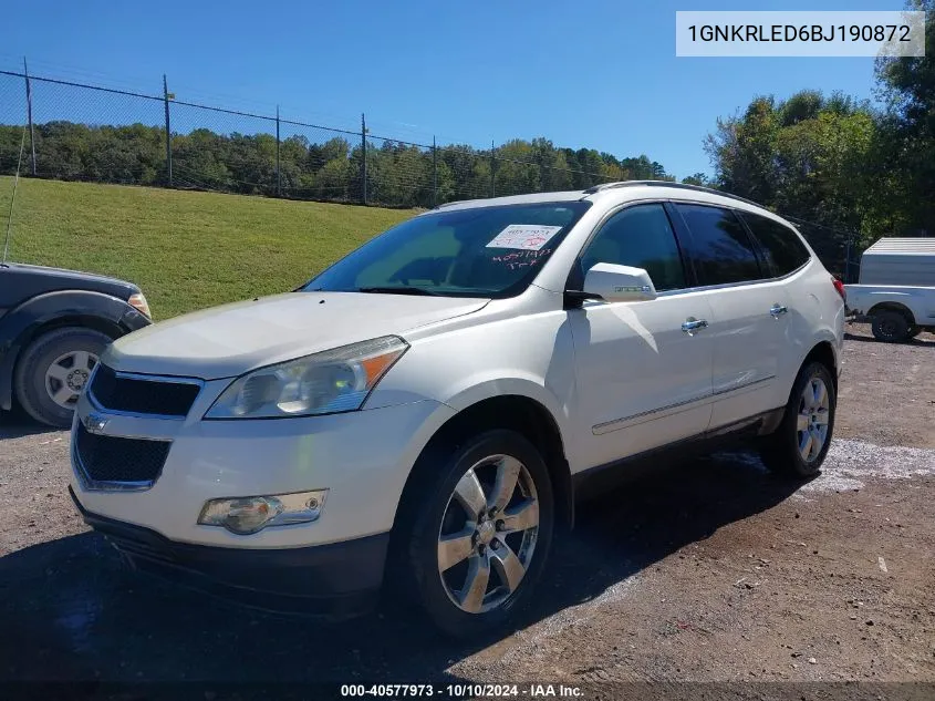
[[[0,173],[12,173],[22,126],[0,125]],[[332,132],[334,133],[334,132]],[[136,185],[167,185],[165,131],[159,126],[37,124],[39,175]],[[345,136],[310,141],[292,134],[208,128],[172,135],[173,185],[251,195],[360,200],[364,153]],[[277,169],[278,168],[278,169]],[[491,172],[492,168],[492,172]],[[551,141],[510,140],[494,151],[467,145],[433,151],[370,138],[367,202],[429,207],[451,199],[588,188],[628,178],[672,179],[647,156],[619,158],[593,148],[559,148]],[[435,192],[433,192],[435,184]]]

